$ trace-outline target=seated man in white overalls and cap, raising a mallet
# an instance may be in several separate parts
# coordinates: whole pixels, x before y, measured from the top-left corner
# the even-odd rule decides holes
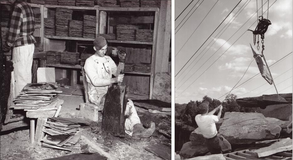
[[[108,85],[123,81],[124,74],[121,70],[124,69],[126,53],[119,51],[119,64],[116,66],[115,62],[110,56],[106,56],[107,41],[104,37],[97,37],[94,40],[95,54],[86,59],[84,70],[86,72],[86,81],[88,83],[89,101],[99,106],[104,107],[105,95],[108,91]],[[112,78],[112,75],[115,78]],[[150,137],[155,130],[155,124],[152,122],[150,128],[145,129],[140,123],[140,119],[134,108],[133,102],[128,99],[125,115],[128,118],[125,120],[125,133],[132,136],[132,139],[139,140],[140,138]]]

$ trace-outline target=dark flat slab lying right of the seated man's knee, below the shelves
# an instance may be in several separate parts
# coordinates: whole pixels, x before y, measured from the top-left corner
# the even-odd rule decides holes
[[[145,109],[171,112],[171,104],[157,99],[133,100],[133,104]]]

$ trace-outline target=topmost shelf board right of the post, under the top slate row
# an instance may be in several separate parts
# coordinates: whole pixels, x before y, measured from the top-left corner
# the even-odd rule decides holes
[[[99,6],[95,6],[99,7]],[[133,11],[133,12],[155,12],[160,11],[159,8],[156,7],[99,7],[100,11]]]

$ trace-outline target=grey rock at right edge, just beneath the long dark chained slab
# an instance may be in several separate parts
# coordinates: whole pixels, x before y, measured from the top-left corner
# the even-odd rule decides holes
[[[265,117],[277,118],[279,120],[289,120],[292,115],[292,104],[269,105],[265,109],[260,109]]]

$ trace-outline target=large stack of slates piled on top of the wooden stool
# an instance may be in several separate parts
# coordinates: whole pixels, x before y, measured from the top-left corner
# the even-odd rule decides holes
[[[39,111],[42,109],[48,109],[46,106],[53,102],[57,96],[56,93],[61,93],[62,90],[57,82],[42,82],[42,83],[28,83],[24,86],[23,91],[19,93],[19,96],[14,99],[14,109],[25,109],[25,111]],[[58,108],[58,106],[57,106]],[[51,110],[57,108],[52,107]],[[38,110],[36,110],[38,109]]]

